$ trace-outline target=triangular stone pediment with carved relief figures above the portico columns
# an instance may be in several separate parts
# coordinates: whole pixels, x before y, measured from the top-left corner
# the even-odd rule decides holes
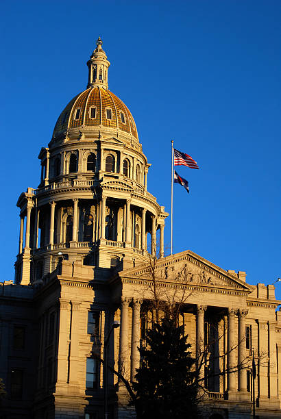
[[[149,279],[152,276],[157,281],[178,283],[201,288],[231,288],[252,292],[250,285],[241,281],[238,275],[219,268],[212,262],[185,251],[162,259],[158,259],[154,268],[151,261],[137,268],[119,272],[120,277]]]

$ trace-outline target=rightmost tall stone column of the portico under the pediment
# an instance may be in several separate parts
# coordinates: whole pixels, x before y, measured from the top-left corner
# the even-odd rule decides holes
[[[238,390],[247,392],[247,370],[246,364],[246,316],[248,310],[239,309],[239,329],[238,329]]]

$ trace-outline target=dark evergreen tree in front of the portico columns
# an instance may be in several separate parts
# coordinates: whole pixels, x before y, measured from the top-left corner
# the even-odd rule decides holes
[[[141,366],[131,402],[138,419],[198,418],[195,358],[187,337],[169,318],[147,332],[147,348],[139,348]]]

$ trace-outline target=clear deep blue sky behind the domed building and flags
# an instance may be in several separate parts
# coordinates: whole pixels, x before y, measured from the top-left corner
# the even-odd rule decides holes
[[[175,185],[174,252],[245,270],[249,283],[281,277],[280,13],[271,0],[3,2],[1,281],[14,278],[16,201],[38,186],[38,153],[86,88],[98,36],[168,212],[171,139],[199,164],[178,166],[191,193]]]

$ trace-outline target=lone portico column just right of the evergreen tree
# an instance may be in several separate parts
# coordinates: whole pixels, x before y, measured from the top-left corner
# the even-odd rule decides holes
[[[196,315],[196,359],[201,387],[204,387],[204,313],[206,308],[205,305],[197,305]]]

